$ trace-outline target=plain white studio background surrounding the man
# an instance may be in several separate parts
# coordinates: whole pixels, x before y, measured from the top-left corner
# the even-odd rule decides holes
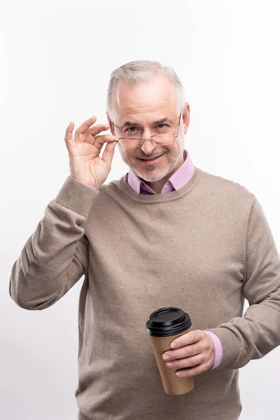
[[[278,1],[1,0],[1,419],[77,418],[83,278],[44,311],[18,307],[8,284],[69,175],[66,126],[106,123],[116,67],[156,59],[176,70],[193,162],[254,193],[280,246],[279,11]],[[116,148],[106,183],[127,169]],[[277,347],[239,370],[241,419],[279,419],[279,356]]]

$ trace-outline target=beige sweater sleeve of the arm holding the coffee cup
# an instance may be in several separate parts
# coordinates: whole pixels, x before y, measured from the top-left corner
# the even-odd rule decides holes
[[[223,357],[216,370],[238,369],[280,344],[280,258],[258,200],[248,217],[243,295],[244,316],[209,328],[221,340]]]

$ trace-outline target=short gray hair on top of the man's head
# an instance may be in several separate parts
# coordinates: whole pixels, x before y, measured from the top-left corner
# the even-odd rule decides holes
[[[160,62],[143,59],[123,64],[123,66],[112,71],[106,97],[106,111],[109,116],[112,113],[113,95],[116,92],[116,87],[120,80],[125,81],[127,85],[136,85],[139,82],[149,80],[160,72],[162,72],[164,76],[167,76],[167,78],[177,87],[179,91],[179,101],[181,106],[183,106],[185,103],[185,90],[176,71],[174,71],[172,67],[162,66]]]

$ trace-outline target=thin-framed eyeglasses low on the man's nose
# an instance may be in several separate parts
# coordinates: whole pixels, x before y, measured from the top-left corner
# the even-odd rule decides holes
[[[180,128],[180,123],[181,123],[181,114],[182,114],[182,109],[180,112],[180,116],[179,116],[179,125],[178,125],[178,130],[177,130],[177,134],[171,133],[171,132],[167,132],[164,134],[155,134],[154,136],[151,136],[150,139],[153,144],[156,144],[157,146],[165,146],[166,144],[172,144],[175,141],[175,137],[178,137],[179,134],[179,128]],[[113,121],[112,121],[113,123]],[[114,125],[113,123],[113,130],[115,132],[115,127],[118,127],[117,125]],[[141,146],[145,140],[144,137],[120,137],[119,139],[117,139],[118,144],[120,147],[123,148],[135,148],[135,147],[139,147]]]

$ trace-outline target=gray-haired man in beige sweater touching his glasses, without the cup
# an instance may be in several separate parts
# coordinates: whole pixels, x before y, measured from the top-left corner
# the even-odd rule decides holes
[[[45,309],[85,274],[78,419],[238,419],[239,367],[280,344],[280,260],[262,207],[193,165],[190,106],[169,67],[120,66],[106,106],[109,125],[90,118],[74,138],[67,127],[71,176],[14,263],[10,296]],[[130,169],[105,185],[116,144]],[[171,306],[193,322],[162,355],[194,377],[193,391],[176,396],[146,334],[148,316]]]

